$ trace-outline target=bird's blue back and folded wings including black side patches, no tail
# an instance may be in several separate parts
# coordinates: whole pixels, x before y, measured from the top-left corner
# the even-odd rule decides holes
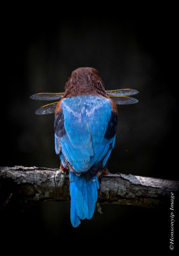
[[[55,116],[56,153],[78,175],[104,168],[114,147],[117,115],[111,100],[85,95],[63,99]]]

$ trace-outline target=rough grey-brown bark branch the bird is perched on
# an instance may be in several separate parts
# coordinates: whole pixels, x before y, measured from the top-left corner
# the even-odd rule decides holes
[[[68,173],[59,169],[38,167],[0,167],[0,181],[12,182],[13,193],[25,202],[70,200]],[[178,180],[156,179],[122,173],[99,178],[100,204],[128,204],[160,207],[170,204],[171,192],[179,193]],[[9,200],[9,199],[8,199]],[[7,201],[7,200],[6,200]]]

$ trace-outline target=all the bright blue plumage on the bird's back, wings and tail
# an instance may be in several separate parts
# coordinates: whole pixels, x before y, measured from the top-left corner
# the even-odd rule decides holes
[[[55,147],[63,166],[68,165],[70,169],[70,219],[77,227],[80,220],[92,218],[97,202],[96,173],[90,180],[86,173],[98,163],[104,168],[114,147],[115,134],[110,138],[109,129],[111,102],[102,97],[84,95],[63,99],[60,106],[63,118],[59,121],[63,120],[64,124],[63,132],[60,132],[56,120],[59,136],[55,134]]]

